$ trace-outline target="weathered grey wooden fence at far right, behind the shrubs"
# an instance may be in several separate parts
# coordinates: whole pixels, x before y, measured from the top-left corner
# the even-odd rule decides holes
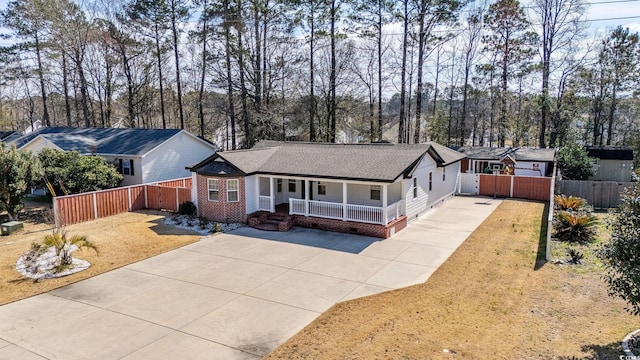
[[[620,204],[620,193],[632,182],[558,180],[556,193],[578,196],[596,208],[612,208]]]

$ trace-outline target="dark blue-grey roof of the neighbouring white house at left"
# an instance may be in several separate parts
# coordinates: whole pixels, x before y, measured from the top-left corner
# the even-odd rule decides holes
[[[81,154],[144,156],[183,131],[180,129],[43,127],[13,139],[9,143],[22,148],[41,138],[61,150],[78,151]],[[208,141],[194,135],[190,136],[215,147]]]

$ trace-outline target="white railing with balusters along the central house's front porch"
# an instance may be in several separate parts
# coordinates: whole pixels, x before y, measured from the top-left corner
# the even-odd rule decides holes
[[[289,213],[292,215],[307,215],[307,206],[309,207],[309,216],[371,224],[386,225],[404,215],[402,211],[402,200],[387,206],[386,216],[384,214],[384,208],[380,206],[347,204],[347,214],[345,217],[344,205],[342,203],[316,200],[309,200],[307,202],[304,199],[289,199]]]

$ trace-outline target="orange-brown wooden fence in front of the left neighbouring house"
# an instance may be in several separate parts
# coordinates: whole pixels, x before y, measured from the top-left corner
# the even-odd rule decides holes
[[[177,211],[185,201],[191,201],[191,178],[57,196],[53,212],[60,227],[141,209]]]

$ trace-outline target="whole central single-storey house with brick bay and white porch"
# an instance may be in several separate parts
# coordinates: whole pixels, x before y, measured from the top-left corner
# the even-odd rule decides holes
[[[388,237],[454,194],[464,157],[435,143],[262,141],[191,167],[192,198],[215,221],[279,212],[300,226]]]

